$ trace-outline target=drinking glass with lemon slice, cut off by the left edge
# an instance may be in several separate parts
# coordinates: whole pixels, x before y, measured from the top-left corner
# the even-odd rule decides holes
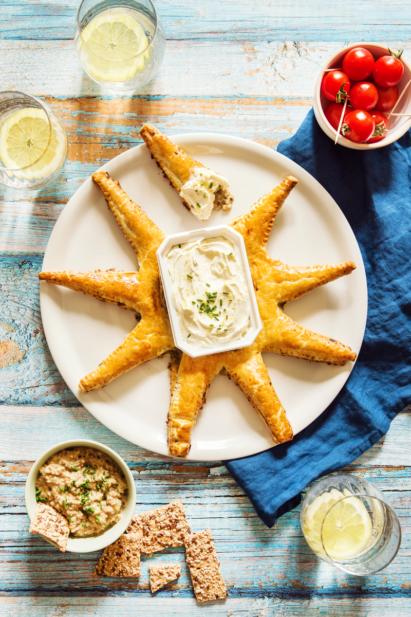
[[[43,188],[66,160],[67,135],[50,107],[22,92],[0,92],[0,183],[23,191]]]

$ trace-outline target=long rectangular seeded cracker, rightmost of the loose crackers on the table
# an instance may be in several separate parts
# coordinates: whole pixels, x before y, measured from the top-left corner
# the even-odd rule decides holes
[[[221,600],[227,597],[227,588],[221,576],[210,529],[185,538],[185,560],[190,568],[195,597],[198,602]]]

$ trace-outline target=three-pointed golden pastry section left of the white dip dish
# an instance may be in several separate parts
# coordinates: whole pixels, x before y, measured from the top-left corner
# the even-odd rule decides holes
[[[91,177],[136,252],[139,271],[41,272],[39,279],[134,310],[140,321],[96,370],[81,379],[78,387],[82,392],[107,386],[134,366],[174,347],[168,314],[161,301],[156,255],[165,236],[107,172],[96,172]]]

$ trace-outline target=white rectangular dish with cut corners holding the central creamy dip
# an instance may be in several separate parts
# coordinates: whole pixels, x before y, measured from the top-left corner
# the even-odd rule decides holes
[[[214,238],[215,236],[226,235],[237,248],[237,256],[241,260],[244,268],[246,284],[248,287],[248,296],[250,297],[250,321],[251,327],[245,336],[235,341],[227,342],[224,345],[214,345],[210,347],[195,347],[191,345],[181,333],[181,327],[177,317],[176,307],[173,302],[173,290],[171,286],[171,277],[169,275],[168,267],[166,264],[166,255],[172,246],[176,244],[183,244],[184,242],[191,242],[200,238]],[[228,225],[217,225],[214,227],[206,227],[204,229],[185,231],[184,233],[175,233],[166,236],[157,249],[157,260],[160,268],[161,282],[163,283],[164,295],[166,298],[166,304],[168,309],[168,316],[170,318],[171,330],[173,331],[173,338],[176,347],[185,352],[192,358],[198,358],[201,355],[218,354],[219,352],[230,351],[232,349],[241,349],[242,347],[249,347],[253,344],[258,334],[261,332],[261,319],[259,316],[258,305],[256,295],[254,293],[253,280],[251,278],[250,265],[248,265],[248,257],[245,250],[244,239],[241,234],[234,231],[232,227]]]

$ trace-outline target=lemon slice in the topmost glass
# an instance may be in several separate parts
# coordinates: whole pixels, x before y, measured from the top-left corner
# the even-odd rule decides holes
[[[149,45],[143,28],[121,13],[97,15],[82,33],[89,49],[90,72],[104,81],[126,81],[144,67]],[[136,57],[138,56],[138,57]]]

